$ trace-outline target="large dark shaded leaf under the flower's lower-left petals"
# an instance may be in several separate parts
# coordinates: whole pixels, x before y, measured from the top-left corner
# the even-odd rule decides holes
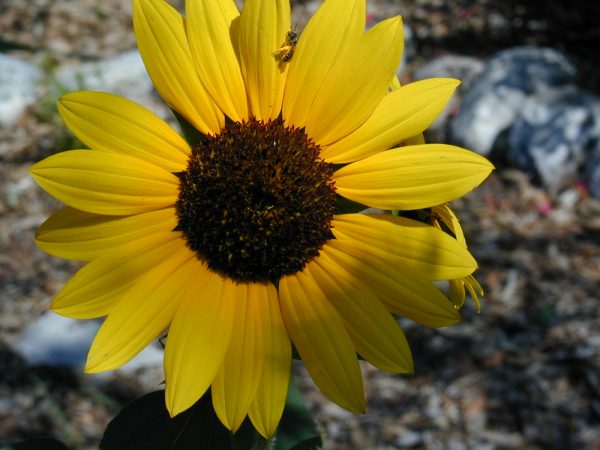
[[[108,424],[100,450],[232,450],[231,433],[216,416],[210,395],[169,417],[164,391],[140,397]]]

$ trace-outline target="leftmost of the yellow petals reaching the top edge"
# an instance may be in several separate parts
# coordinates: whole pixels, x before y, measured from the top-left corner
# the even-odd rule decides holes
[[[156,90],[204,134],[217,134],[225,119],[196,73],[181,15],[164,0],[134,0],[133,29]]]

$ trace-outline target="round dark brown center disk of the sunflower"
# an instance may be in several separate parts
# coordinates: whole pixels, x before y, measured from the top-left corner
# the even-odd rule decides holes
[[[177,230],[208,266],[240,282],[296,273],[331,239],[333,168],[303,129],[228,123],[192,150]]]

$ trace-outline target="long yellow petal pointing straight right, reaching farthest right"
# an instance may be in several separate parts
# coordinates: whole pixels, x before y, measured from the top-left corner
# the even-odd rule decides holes
[[[468,150],[442,144],[388,150],[335,172],[340,195],[380,209],[428,208],[475,189],[494,166]]]

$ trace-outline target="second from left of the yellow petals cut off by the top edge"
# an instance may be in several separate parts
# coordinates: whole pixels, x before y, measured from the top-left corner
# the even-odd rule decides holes
[[[240,15],[235,3],[186,0],[185,12],[187,38],[202,84],[233,121],[247,119],[246,88],[230,35]]]

